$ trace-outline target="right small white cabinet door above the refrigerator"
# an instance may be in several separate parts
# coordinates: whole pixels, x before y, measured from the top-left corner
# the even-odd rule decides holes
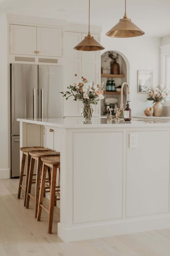
[[[62,29],[37,27],[37,55],[62,57]]]

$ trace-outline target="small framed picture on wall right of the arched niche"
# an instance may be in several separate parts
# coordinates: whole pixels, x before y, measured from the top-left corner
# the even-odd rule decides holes
[[[153,71],[138,70],[137,87],[138,93],[147,93],[146,88],[152,88]]]

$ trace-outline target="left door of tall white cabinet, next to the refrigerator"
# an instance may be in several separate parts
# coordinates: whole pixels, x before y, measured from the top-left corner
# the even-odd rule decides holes
[[[65,32],[64,49],[65,49],[65,67],[64,67],[64,87],[76,83],[81,78],[81,52],[74,50],[74,47],[81,41],[81,33]],[[75,77],[77,74],[77,77]],[[67,101],[64,100],[64,116],[80,116],[81,102],[75,102],[73,97]]]

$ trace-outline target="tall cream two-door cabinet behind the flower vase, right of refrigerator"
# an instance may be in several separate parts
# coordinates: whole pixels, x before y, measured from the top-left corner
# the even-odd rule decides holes
[[[95,84],[100,82],[100,63],[99,63],[99,51],[77,51],[74,47],[82,40],[86,34],[79,32],[65,32],[65,64],[64,64],[64,88],[76,83],[81,76],[86,77],[89,81],[94,81]],[[99,35],[94,35],[96,40],[99,40]],[[75,77],[77,74],[77,77]],[[81,115],[80,101],[75,102],[69,98],[64,101],[64,116],[80,116]],[[93,105],[93,116],[99,116],[100,102],[98,105]]]

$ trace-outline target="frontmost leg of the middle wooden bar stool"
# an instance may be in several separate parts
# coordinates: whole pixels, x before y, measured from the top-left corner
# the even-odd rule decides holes
[[[37,211],[38,211],[38,200],[39,200],[39,187],[40,187],[41,171],[42,171],[42,161],[41,161],[41,159],[38,158],[37,176],[36,176],[36,196],[35,196],[35,217],[36,218],[37,218]]]

